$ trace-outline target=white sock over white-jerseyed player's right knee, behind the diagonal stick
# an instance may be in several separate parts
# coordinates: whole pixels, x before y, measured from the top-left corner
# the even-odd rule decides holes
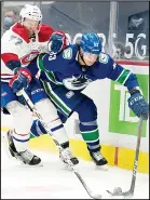
[[[57,109],[49,98],[36,103],[35,106],[45,123],[50,123],[58,118]]]

